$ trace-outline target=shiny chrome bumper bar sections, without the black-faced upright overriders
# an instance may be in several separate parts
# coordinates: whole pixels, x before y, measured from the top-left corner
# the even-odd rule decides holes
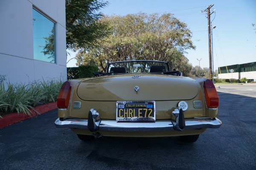
[[[217,118],[192,118],[185,119],[185,129],[219,128],[222,122]],[[55,121],[55,126],[88,129],[87,119],[67,118]],[[165,131],[174,130],[171,120],[157,120],[155,122],[117,122],[116,120],[103,120],[99,124],[99,130],[109,131]]]

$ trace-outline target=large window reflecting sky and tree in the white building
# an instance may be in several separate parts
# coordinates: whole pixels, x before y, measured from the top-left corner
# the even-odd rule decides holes
[[[34,59],[56,63],[55,24],[33,8]]]

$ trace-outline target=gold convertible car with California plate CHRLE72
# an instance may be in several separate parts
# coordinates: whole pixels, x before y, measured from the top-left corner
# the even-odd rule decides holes
[[[95,77],[64,82],[56,127],[81,140],[101,136],[180,136],[195,142],[218,128],[218,94],[206,78],[183,77],[169,62],[110,62]]]

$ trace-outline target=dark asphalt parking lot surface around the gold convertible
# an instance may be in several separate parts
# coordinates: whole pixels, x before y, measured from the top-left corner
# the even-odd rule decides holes
[[[57,110],[0,129],[0,169],[256,169],[256,85],[220,85],[218,129],[179,137],[83,142],[56,128]]]

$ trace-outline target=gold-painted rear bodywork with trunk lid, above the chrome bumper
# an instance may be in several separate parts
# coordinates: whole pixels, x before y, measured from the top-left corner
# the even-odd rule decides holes
[[[159,75],[157,75],[159,76]],[[161,75],[160,75],[161,76]],[[126,77],[130,78],[131,82],[122,82],[123,84],[130,84],[130,87],[120,88],[125,90],[119,91],[119,84],[116,86],[114,84],[111,85],[105,85],[105,83],[101,81],[105,81],[106,79],[103,77],[102,79],[99,78],[91,78],[86,79],[83,81],[79,80],[72,80],[72,90],[73,93],[71,95],[70,99],[70,106],[67,110],[58,110],[58,117],[81,117],[81,118],[87,118],[88,117],[88,111],[90,111],[91,108],[95,108],[99,113],[102,119],[116,119],[116,101],[119,100],[154,100],[156,105],[156,119],[172,119],[172,111],[174,111],[175,108],[177,108],[178,102],[181,100],[187,102],[188,109],[184,112],[185,118],[191,118],[191,117],[212,117],[215,118],[218,116],[218,110],[217,109],[207,109],[205,102],[204,102],[204,92],[202,88],[202,78],[201,79],[190,79],[183,77],[168,77],[168,75],[164,75],[163,79],[167,81],[166,79],[170,79],[170,88],[165,87],[161,84],[157,85],[156,81],[154,84],[155,86],[151,86],[149,89],[146,89],[147,83],[143,82],[143,77],[139,79],[140,82],[137,81],[137,83],[133,82],[134,79],[132,79],[132,75],[128,75]],[[116,76],[117,77],[117,76]],[[114,79],[116,79],[114,77]],[[123,76],[122,76],[123,77]],[[121,77],[121,78],[122,78]],[[146,76],[145,76],[146,77]],[[149,76],[148,76],[149,77]],[[148,78],[146,77],[146,78]],[[156,76],[150,76],[153,80],[156,79]],[[111,77],[108,77],[108,79],[111,79]],[[175,79],[179,79],[179,83],[174,83]],[[137,80],[137,79],[136,79]],[[197,80],[200,80],[201,83],[199,83]],[[96,83],[100,81],[101,83]],[[111,80],[109,80],[111,81]],[[127,80],[128,81],[128,80]],[[148,80],[150,81],[150,80]],[[152,81],[152,80],[151,80]],[[79,83],[77,83],[79,82]],[[86,83],[85,83],[86,82]],[[186,85],[183,85],[183,83],[187,83]],[[190,84],[189,84],[190,83]],[[93,85],[91,85],[93,84]],[[145,85],[143,85],[145,84]],[[188,85],[189,84],[189,85]],[[136,92],[134,90],[134,86],[138,85],[140,86],[140,90]],[[189,86],[192,85],[192,88]],[[85,87],[84,87],[85,86]],[[90,87],[89,89],[86,88],[86,86]],[[94,87],[98,86],[98,87]],[[100,90],[101,87],[104,86],[104,90]],[[108,88],[107,88],[108,87]],[[145,87],[145,89],[143,89]],[[78,91],[76,90],[78,88]],[[169,91],[166,91],[167,89],[170,89]],[[82,90],[84,89],[84,90]],[[116,90],[117,89],[117,90]],[[104,92],[100,95],[99,91],[108,91]],[[116,92],[118,91],[118,93]],[[150,91],[151,93],[148,93]],[[157,91],[157,92],[156,92]],[[196,91],[196,92],[191,92]],[[79,94],[79,95],[78,95]],[[86,95],[87,94],[87,95]],[[117,94],[117,95],[114,95]],[[102,96],[102,97],[101,97]],[[126,97],[127,96],[127,97]],[[82,98],[82,99],[81,99]],[[93,100],[89,100],[89,99]],[[108,98],[111,98],[111,100]],[[88,99],[88,100],[83,100]],[[161,100],[157,100],[161,99]],[[166,99],[166,100],[163,100]],[[169,100],[168,100],[169,99]],[[100,101],[102,100],[102,101]],[[194,107],[194,101],[201,101],[202,102],[202,108],[195,108]],[[74,109],[72,107],[74,101],[80,101],[81,102],[81,108],[80,109]]]

